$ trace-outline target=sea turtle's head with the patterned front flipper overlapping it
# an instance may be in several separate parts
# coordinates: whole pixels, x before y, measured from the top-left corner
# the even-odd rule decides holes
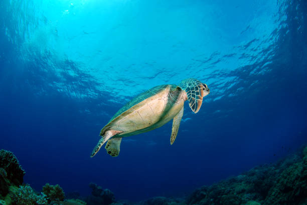
[[[197,79],[189,78],[182,80],[180,87],[186,91],[192,111],[197,113],[202,106],[203,97],[210,93],[208,85]]]

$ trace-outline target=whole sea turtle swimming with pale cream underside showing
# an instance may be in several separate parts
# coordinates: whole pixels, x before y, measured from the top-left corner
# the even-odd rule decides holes
[[[184,111],[184,102],[189,100],[197,113],[203,97],[209,94],[208,86],[197,79],[182,80],[180,85],[164,84],[139,94],[119,109],[101,131],[102,137],[95,146],[94,156],[105,146],[108,154],[118,156],[121,138],[156,129],[173,119],[171,144],[174,143]],[[111,138],[112,137],[112,138]]]

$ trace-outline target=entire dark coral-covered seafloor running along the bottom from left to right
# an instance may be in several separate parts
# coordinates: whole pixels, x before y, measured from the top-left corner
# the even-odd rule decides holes
[[[307,146],[271,164],[196,189],[188,197],[154,197],[139,202],[116,201],[109,189],[90,183],[86,197],[47,183],[40,192],[23,183],[25,171],[16,156],[0,150],[0,204],[307,204]]]

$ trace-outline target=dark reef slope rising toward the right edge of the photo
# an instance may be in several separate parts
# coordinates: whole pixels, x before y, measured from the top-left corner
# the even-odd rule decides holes
[[[273,164],[196,189],[188,204],[307,204],[307,146]]]

